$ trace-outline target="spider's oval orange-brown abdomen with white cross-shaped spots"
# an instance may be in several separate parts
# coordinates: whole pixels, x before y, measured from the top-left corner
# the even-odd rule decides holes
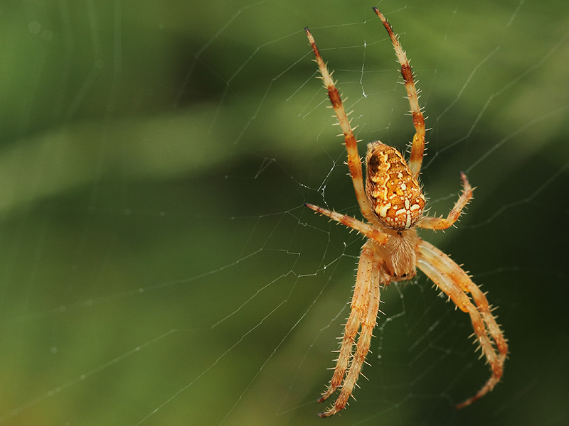
[[[368,144],[366,193],[378,219],[396,231],[414,226],[425,208],[425,196],[403,155],[379,141]]]

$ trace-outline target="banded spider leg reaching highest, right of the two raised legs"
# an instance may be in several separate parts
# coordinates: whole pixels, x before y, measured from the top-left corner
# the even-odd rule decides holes
[[[387,30],[391,43],[393,43],[393,48],[395,49],[395,55],[397,55],[397,60],[401,65],[401,75],[403,75],[403,80],[405,81],[405,89],[407,90],[407,97],[411,107],[410,112],[413,116],[413,126],[415,126],[415,136],[413,136],[413,144],[411,145],[409,168],[416,179],[418,178],[421,170],[422,155],[425,153],[425,118],[423,117],[421,108],[419,107],[418,90],[415,87],[415,82],[413,80],[411,65],[409,65],[407,55],[405,55],[405,51],[399,43],[398,36],[393,33],[393,28],[391,28],[390,23],[387,18],[383,16],[383,13],[381,13],[376,7],[373,8],[373,11],[376,12],[377,16],[379,16],[383,26]]]

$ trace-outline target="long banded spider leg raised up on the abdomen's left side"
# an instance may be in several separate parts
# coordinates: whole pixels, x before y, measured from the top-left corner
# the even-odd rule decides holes
[[[356,137],[353,136],[353,129],[351,128],[348,114],[346,114],[346,110],[344,109],[344,104],[342,104],[340,93],[338,92],[338,89],[336,89],[334,80],[332,80],[332,76],[328,72],[328,68],[318,51],[314,37],[312,37],[308,27],[304,28],[304,31],[307,32],[308,40],[312,46],[312,50],[316,56],[316,62],[320,69],[321,78],[324,81],[324,86],[328,90],[328,97],[330,98],[332,107],[336,113],[336,118],[338,119],[342,132],[344,133],[346,151],[348,151],[348,167],[350,169],[351,180],[353,182],[353,189],[356,191],[356,198],[360,205],[361,214],[363,214],[363,217],[368,219],[368,222],[373,222],[373,212],[371,212],[368,197],[366,196],[366,191],[363,187],[361,159],[358,154],[358,141],[356,141]]]

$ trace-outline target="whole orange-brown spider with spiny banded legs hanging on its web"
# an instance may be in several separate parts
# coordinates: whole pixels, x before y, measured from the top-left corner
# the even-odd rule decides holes
[[[312,34],[308,28],[304,28],[316,56],[315,62],[321,74],[319,78],[323,80],[328,90],[328,96],[336,113],[338,119],[336,124],[341,126],[344,133],[351,180],[361,214],[366,222],[360,222],[353,217],[314,204],[305,205],[367,237],[358,261],[351,312],[344,326],[334,374],[318,402],[328,399],[337,390],[339,395],[334,405],[324,413],[319,413],[320,417],[329,417],[344,409],[352,395],[369,351],[373,327],[376,325],[380,288],[392,281],[412,279],[417,273],[417,268],[423,271],[459,310],[470,315],[475,342],[478,342],[482,348],[482,354],[490,366],[491,376],[488,381],[476,395],[464,400],[457,405],[457,408],[470,405],[496,386],[502,376],[504,361],[508,354],[506,339],[496,324],[496,317],[492,314],[492,308],[484,293],[449,256],[417,235],[418,227],[438,230],[452,226],[459,218],[462,209],[471,200],[473,188],[466,175],[460,173],[462,194],[448,216],[429,217],[423,214],[426,200],[418,178],[425,151],[425,120],[419,107],[418,91],[398,36],[393,33],[393,28],[385,16],[375,7],[373,11],[385,26],[401,65],[415,136],[411,143],[409,162],[406,162],[403,155],[391,146],[380,141],[369,143],[365,185],[361,159],[358,155],[358,141],[353,136],[349,114],[344,110],[338,89],[322,60]]]

